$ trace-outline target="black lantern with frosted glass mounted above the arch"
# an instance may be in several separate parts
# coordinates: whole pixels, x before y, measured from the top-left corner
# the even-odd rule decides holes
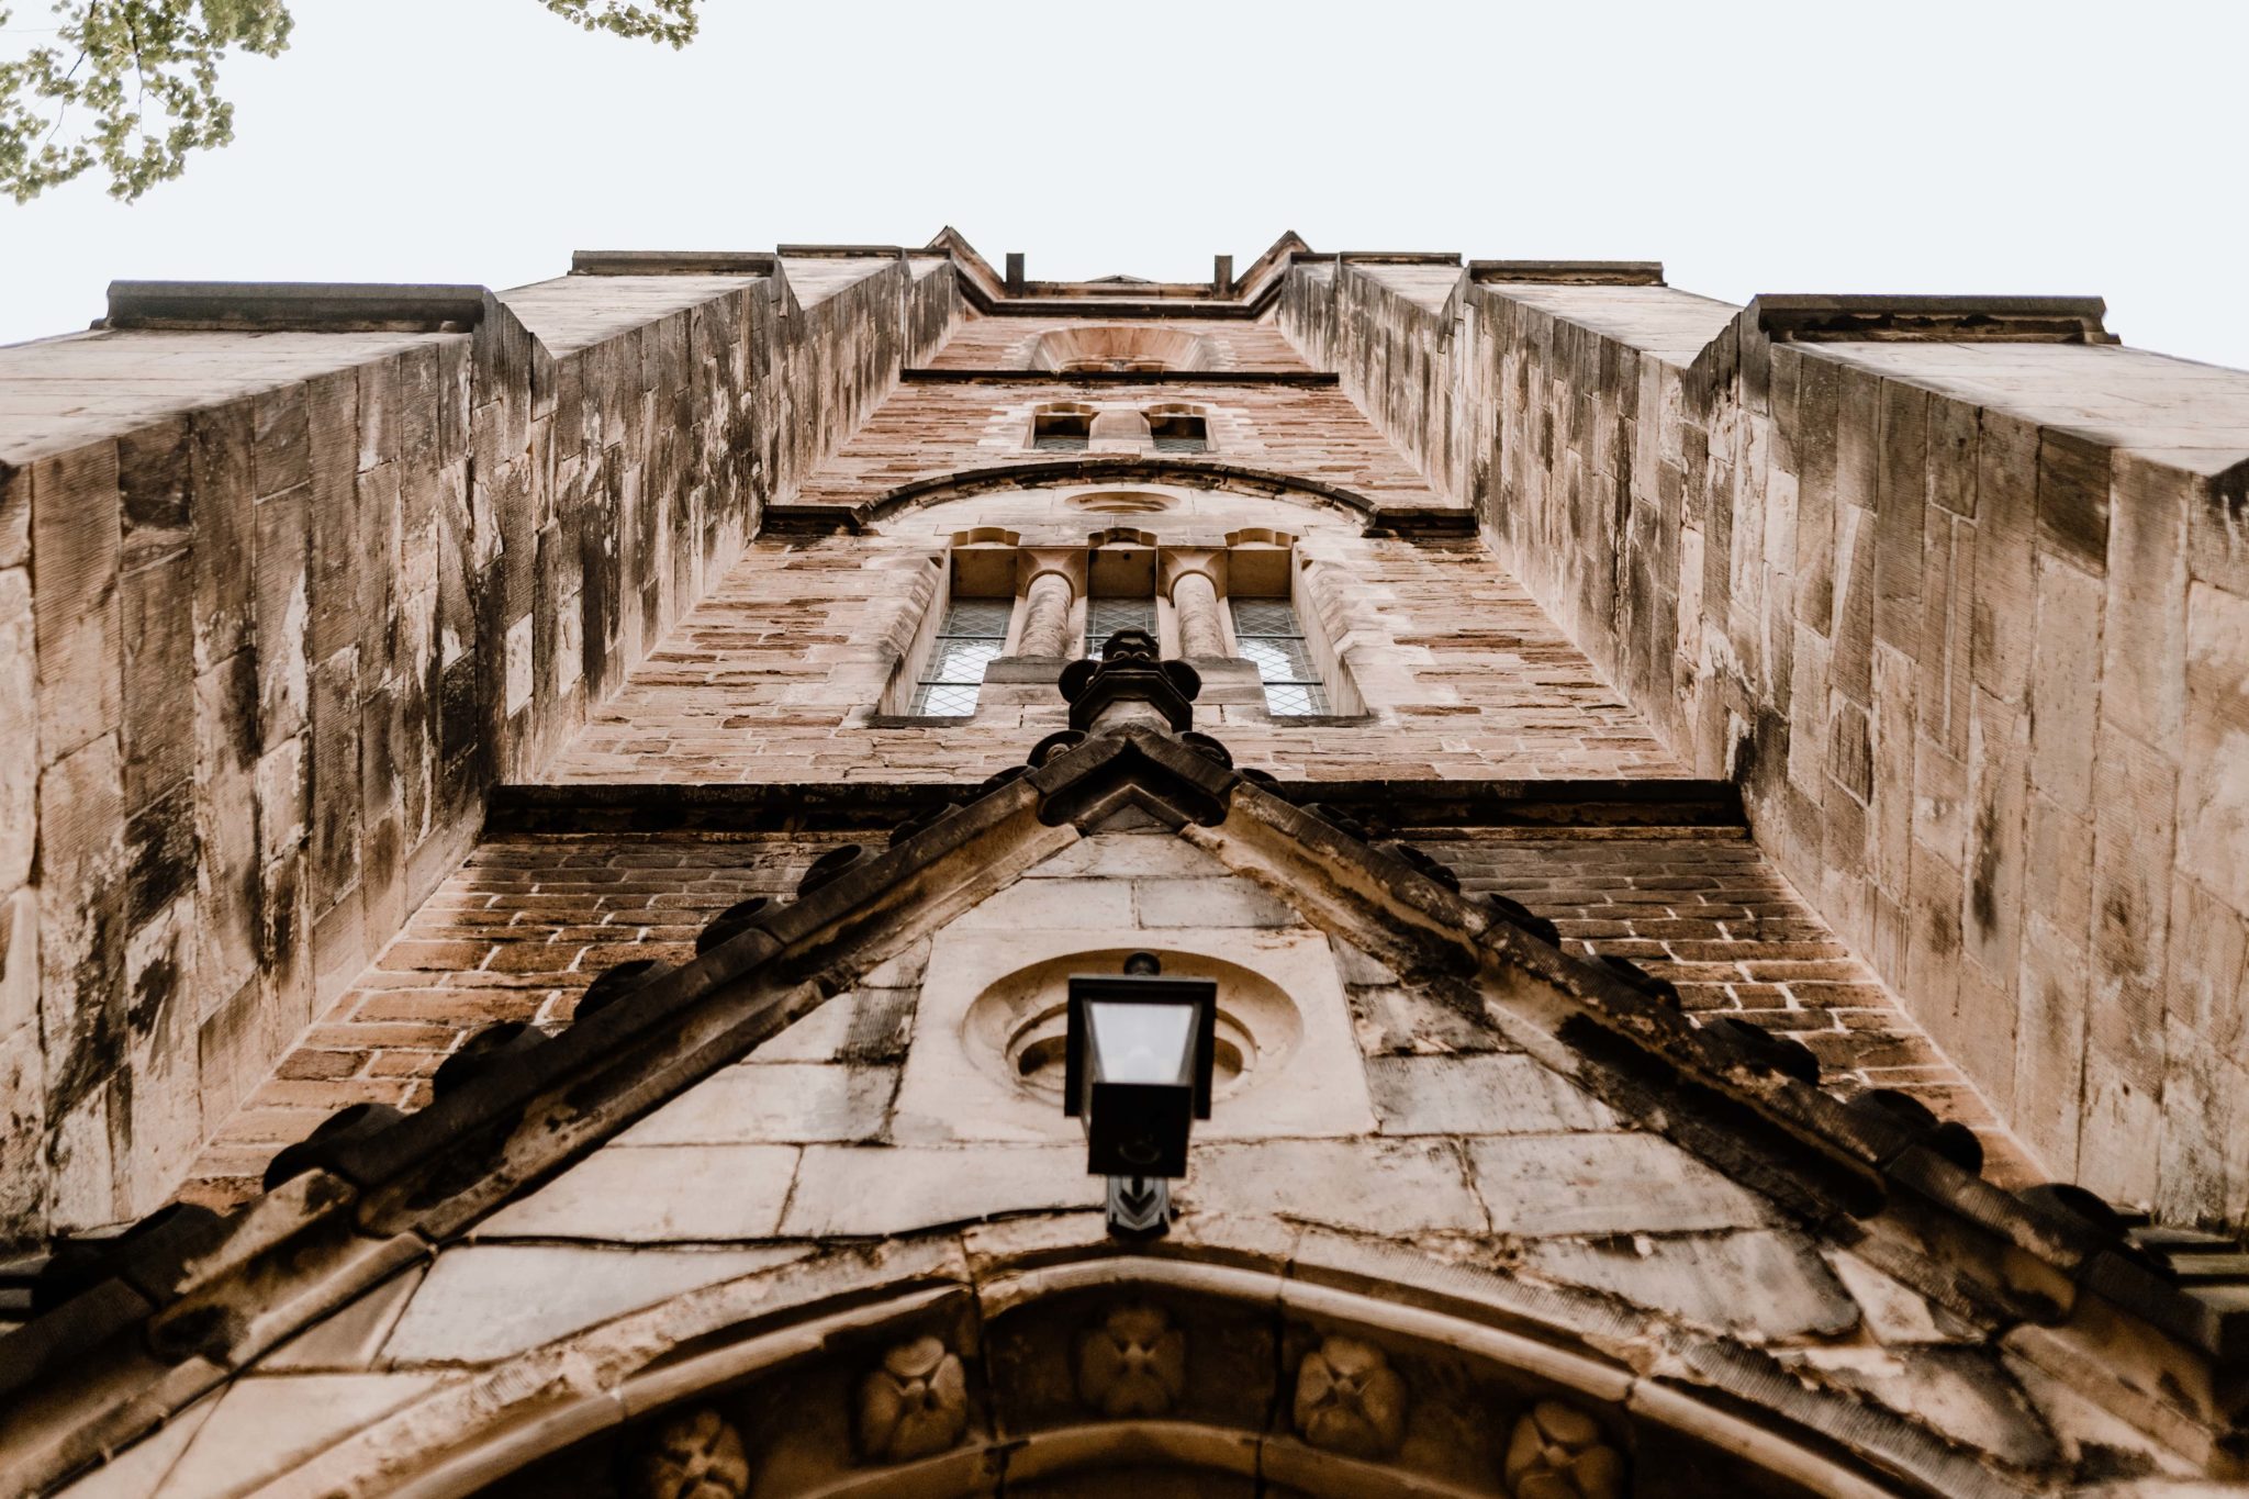
[[[1071,978],[1062,1110],[1086,1128],[1086,1171],[1109,1178],[1118,1232],[1163,1232],[1163,1182],[1187,1175],[1187,1135],[1210,1117],[1217,1018],[1217,982],[1163,978],[1154,953]]]

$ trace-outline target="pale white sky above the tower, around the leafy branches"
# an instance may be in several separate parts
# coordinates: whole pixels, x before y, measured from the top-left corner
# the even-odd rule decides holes
[[[9,0],[0,0],[7,4]],[[13,0],[11,34],[45,27]],[[1320,249],[1660,258],[1754,292],[2096,292],[2249,366],[2249,4],[297,0],[234,146],[0,205],[0,342],[110,276],[517,285],[573,247],[924,243],[1039,279]]]

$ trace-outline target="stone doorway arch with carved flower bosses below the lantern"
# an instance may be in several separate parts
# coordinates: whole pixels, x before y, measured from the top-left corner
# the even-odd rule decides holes
[[[1412,1301],[1424,1301],[1415,1306]],[[409,1499],[1894,1490],[1561,1328],[1403,1285],[1073,1259],[695,1339],[538,1423],[463,1434]]]

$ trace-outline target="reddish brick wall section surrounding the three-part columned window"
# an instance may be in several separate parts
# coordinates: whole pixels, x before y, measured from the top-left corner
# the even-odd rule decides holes
[[[888,407],[870,429],[886,420]],[[927,461],[942,463],[942,449]],[[1082,488],[906,510],[875,537],[760,539],[549,778],[974,784],[1021,764],[1066,726],[1053,685],[987,688],[965,726],[882,726],[875,708],[931,607],[945,537],[1003,526],[1026,546],[1084,546],[1118,517],[1077,510]],[[1356,517],[1277,499],[1178,492],[1176,506],[1122,519],[1165,544],[1223,544],[1246,526],[1298,535],[1309,600],[1367,706],[1358,724],[1300,726],[1262,708],[1201,706],[1196,726],[1241,764],[1307,780],[1682,773],[1480,542],[1367,537]]]

